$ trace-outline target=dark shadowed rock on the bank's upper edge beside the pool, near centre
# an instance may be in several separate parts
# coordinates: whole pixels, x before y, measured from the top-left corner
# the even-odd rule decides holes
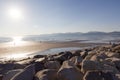
[[[54,60],[55,61],[57,60],[62,64],[63,61],[70,59],[72,56],[73,56],[72,53],[69,51],[61,52],[61,53],[59,53],[59,55],[54,56]]]

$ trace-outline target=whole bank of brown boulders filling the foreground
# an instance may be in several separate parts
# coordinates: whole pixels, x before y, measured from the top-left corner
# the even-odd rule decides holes
[[[120,80],[120,45],[0,63],[0,80]]]

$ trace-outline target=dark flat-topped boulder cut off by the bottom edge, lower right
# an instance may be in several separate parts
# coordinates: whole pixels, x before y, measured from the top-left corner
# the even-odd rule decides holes
[[[83,80],[117,80],[111,72],[88,71]]]

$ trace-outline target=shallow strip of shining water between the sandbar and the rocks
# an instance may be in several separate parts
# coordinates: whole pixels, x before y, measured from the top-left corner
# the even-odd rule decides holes
[[[72,51],[72,50],[80,50],[80,49],[85,49],[87,47],[64,47],[64,48],[52,48],[52,49],[47,49],[43,51],[38,51],[38,52],[28,52],[28,53],[11,53],[7,55],[3,55],[0,57],[1,61],[4,60],[21,60],[24,58],[28,57],[33,57],[34,55],[52,55],[52,54],[57,54],[63,51]]]

